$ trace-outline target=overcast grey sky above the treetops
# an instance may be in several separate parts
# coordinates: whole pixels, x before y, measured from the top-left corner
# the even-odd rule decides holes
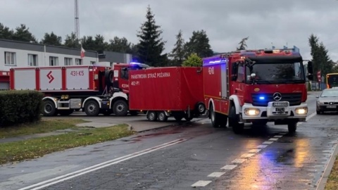
[[[148,5],[167,41],[165,52],[173,49],[179,30],[185,40],[194,30],[206,30],[213,51],[232,51],[249,36],[249,49],[298,46],[309,59],[313,33],[338,61],[337,0],[79,0],[80,36],[137,43]],[[73,0],[1,0],[0,23],[13,29],[24,23],[37,39],[53,31],[64,40],[75,30],[74,10]]]

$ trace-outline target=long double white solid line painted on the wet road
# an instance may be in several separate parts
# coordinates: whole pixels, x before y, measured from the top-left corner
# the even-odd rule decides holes
[[[101,168],[104,168],[104,167],[108,167],[110,165],[115,165],[117,163],[121,163],[125,160],[130,160],[131,158],[135,158],[137,156],[142,156],[146,153],[151,153],[151,152],[154,152],[154,151],[158,151],[162,148],[165,148],[165,147],[168,147],[168,146],[173,146],[175,144],[179,144],[183,141],[187,141],[187,139],[177,139],[175,141],[170,141],[168,143],[165,143],[165,144],[161,144],[161,145],[158,145],[158,146],[154,146],[152,148],[147,148],[147,149],[144,149],[143,151],[138,151],[138,152],[135,152],[135,153],[131,153],[131,154],[128,154],[126,156],[122,156],[120,158],[115,158],[113,160],[108,160],[104,163],[99,163],[97,165],[93,165],[91,167],[86,167],[82,170],[77,170],[75,172],[70,172],[69,174],[67,175],[61,175],[59,177],[55,177],[53,179],[48,179],[44,182],[39,182],[37,184],[32,184],[30,186],[26,186],[22,189],[18,189],[18,190],[25,190],[25,189],[42,189],[46,186],[51,186],[52,184],[57,184],[59,182],[64,182],[65,180],[68,180],[68,179],[72,179],[74,177],[77,177],[77,176],[80,176],[80,175],[84,175],[84,174],[87,174],[89,172],[94,172],[95,170],[99,170]],[[33,190],[32,189],[32,190]]]

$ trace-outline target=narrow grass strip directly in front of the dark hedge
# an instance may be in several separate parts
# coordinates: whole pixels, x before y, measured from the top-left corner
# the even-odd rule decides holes
[[[41,120],[39,122],[33,122],[28,124],[20,124],[17,126],[0,128],[0,139],[6,139],[9,137],[18,137],[20,135],[38,134],[46,132],[54,132],[56,130],[75,128],[76,124],[87,122],[85,120],[61,120],[50,119]]]

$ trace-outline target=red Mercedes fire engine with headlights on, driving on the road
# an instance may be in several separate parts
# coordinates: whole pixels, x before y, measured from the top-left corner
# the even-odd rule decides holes
[[[243,50],[204,58],[204,101],[213,127],[235,133],[244,123],[287,125],[306,120],[306,74],[295,49]],[[313,78],[308,62],[309,80]]]

